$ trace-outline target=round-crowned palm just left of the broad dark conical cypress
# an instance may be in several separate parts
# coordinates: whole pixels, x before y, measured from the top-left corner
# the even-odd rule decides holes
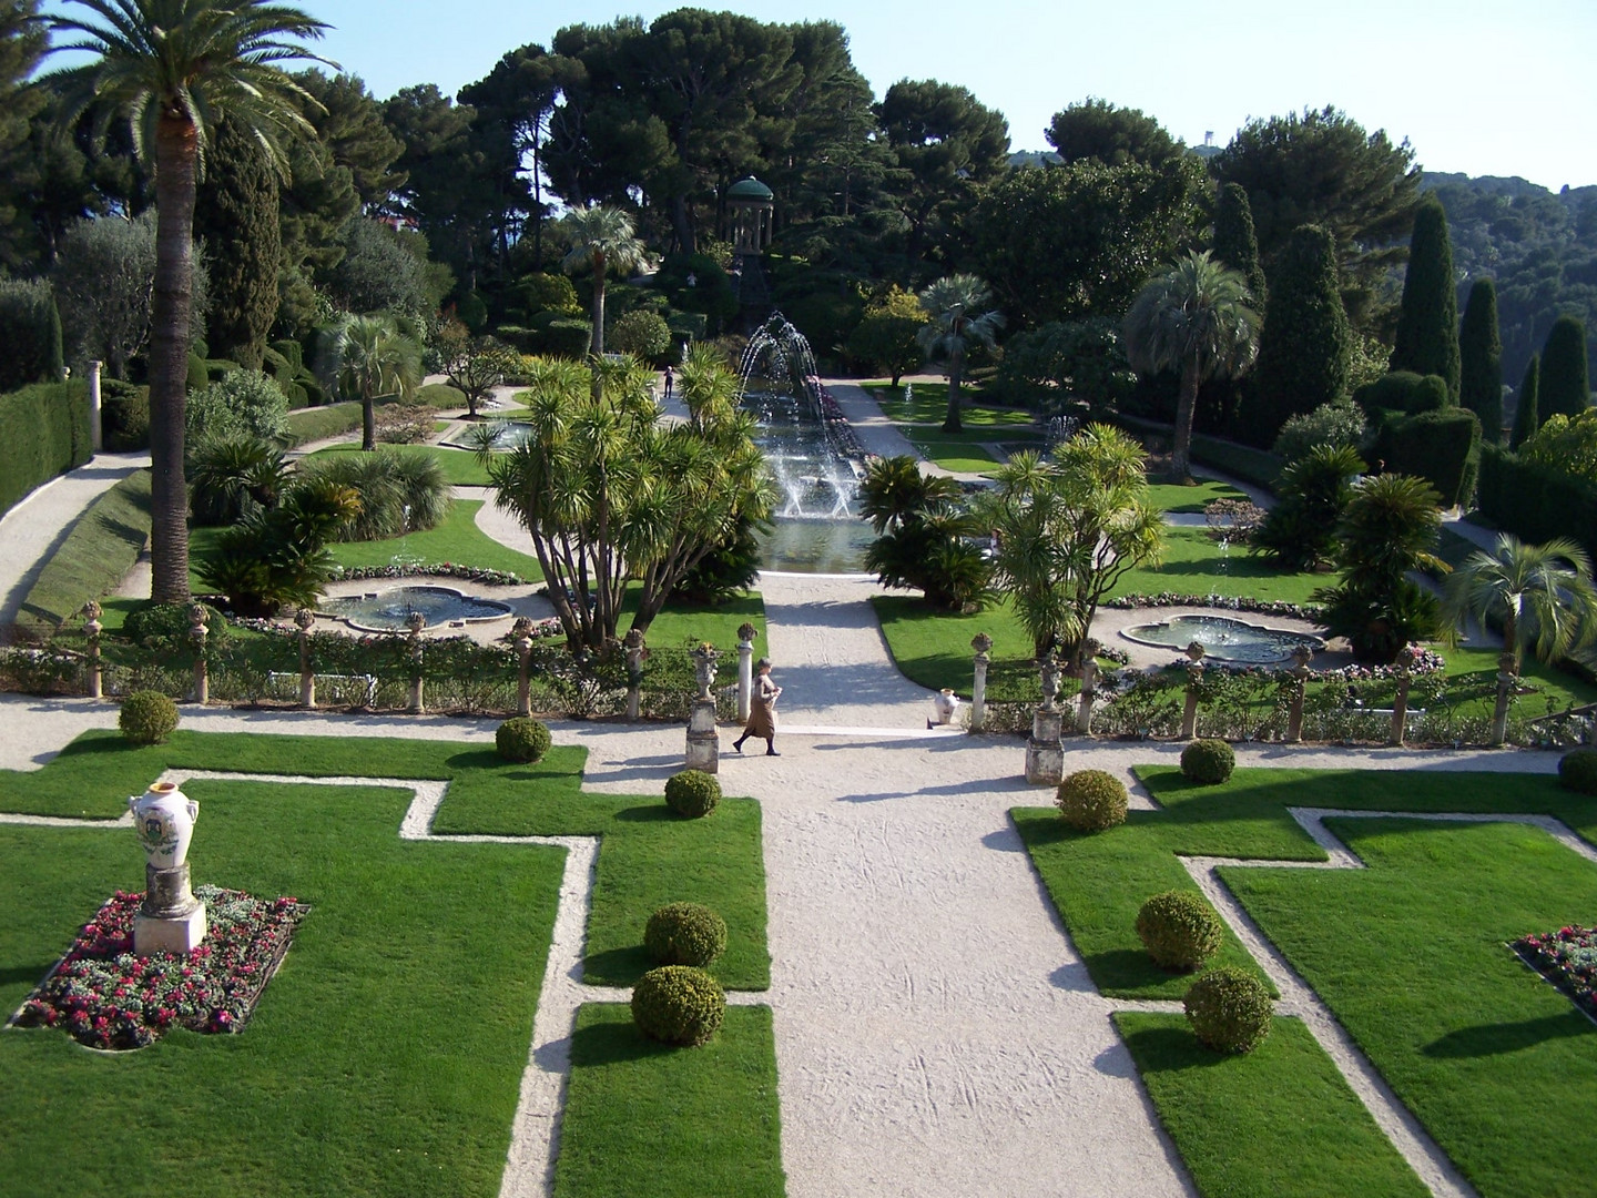
[[[1233,379],[1258,356],[1258,313],[1247,280],[1209,251],[1188,254],[1148,280],[1121,326],[1126,356],[1142,374],[1180,371],[1171,473],[1191,476],[1193,412],[1209,379]]]

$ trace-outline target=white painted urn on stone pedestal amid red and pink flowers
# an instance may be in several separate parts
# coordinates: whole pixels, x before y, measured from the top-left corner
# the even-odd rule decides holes
[[[188,883],[188,842],[200,803],[176,783],[128,797],[133,831],[144,845],[144,904],[133,920],[133,952],[193,952],[204,939],[206,910]]]

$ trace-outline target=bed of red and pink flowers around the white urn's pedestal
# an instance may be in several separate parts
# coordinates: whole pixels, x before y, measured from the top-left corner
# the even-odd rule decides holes
[[[195,895],[208,917],[200,947],[134,957],[133,920],[144,895],[117,891],[13,1022],[59,1027],[104,1049],[145,1048],[172,1027],[241,1032],[308,907],[217,887],[195,887]]]

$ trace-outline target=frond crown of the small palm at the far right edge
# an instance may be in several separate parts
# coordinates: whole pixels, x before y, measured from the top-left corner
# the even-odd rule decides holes
[[[1488,618],[1501,621],[1516,674],[1527,649],[1538,661],[1557,661],[1597,641],[1591,557],[1563,537],[1525,545],[1501,532],[1490,551],[1476,549],[1447,580],[1442,615],[1455,628],[1468,617],[1482,626]]]

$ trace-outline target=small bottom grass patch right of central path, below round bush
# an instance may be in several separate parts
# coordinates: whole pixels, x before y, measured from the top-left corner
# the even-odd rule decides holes
[[[1429,1193],[1300,1019],[1276,1019],[1246,1056],[1204,1048],[1179,1014],[1123,1011],[1115,1025],[1201,1193]]]

